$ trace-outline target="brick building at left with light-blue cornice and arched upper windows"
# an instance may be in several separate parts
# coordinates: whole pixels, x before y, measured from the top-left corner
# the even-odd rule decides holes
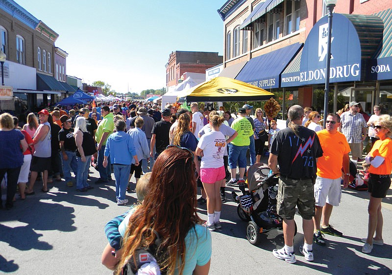
[[[0,50],[6,54],[4,83],[29,110],[59,101],[74,91],[66,83],[65,69],[61,78],[54,77],[56,56],[65,52],[54,45],[58,36],[15,1],[0,1]],[[62,66],[66,68],[63,57]]]

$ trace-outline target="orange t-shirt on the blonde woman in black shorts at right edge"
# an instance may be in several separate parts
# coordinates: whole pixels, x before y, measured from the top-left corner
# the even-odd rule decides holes
[[[377,140],[373,148],[370,150],[370,156],[382,156],[385,158],[384,162],[377,168],[370,165],[369,172],[377,175],[391,175],[392,171],[392,140],[386,138],[384,140]]]

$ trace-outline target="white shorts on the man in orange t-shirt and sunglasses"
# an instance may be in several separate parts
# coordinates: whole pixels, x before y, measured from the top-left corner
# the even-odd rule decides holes
[[[339,206],[342,198],[341,178],[330,179],[317,176],[315,183],[315,204],[324,206],[325,202]]]

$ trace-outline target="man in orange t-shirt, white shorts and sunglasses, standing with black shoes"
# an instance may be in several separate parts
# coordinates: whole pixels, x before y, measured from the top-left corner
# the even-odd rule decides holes
[[[344,171],[343,188],[349,183],[349,156],[350,146],[345,136],[338,131],[340,127],[340,116],[328,114],[325,121],[325,129],[317,132],[322,157],[317,162],[317,178],[315,183],[315,216],[314,243],[324,246],[323,234],[342,236],[343,233],[329,224],[333,206],[339,206],[342,198],[341,178],[342,166]],[[322,224],[320,226],[322,216]]]

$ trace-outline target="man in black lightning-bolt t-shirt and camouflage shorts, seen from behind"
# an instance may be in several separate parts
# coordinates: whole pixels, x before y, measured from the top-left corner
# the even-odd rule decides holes
[[[302,217],[305,242],[299,251],[307,261],[313,261],[313,216],[315,215],[314,182],[317,158],[322,156],[315,131],[302,126],[304,110],[299,105],[290,107],[290,124],[274,138],[268,164],[272,173],[280,174],[277,213],[283,218],[284,248],[273,255],[288,263],[295,263],[293,247],[295,206]],[[277,168],[279,163],[279,169]]]

